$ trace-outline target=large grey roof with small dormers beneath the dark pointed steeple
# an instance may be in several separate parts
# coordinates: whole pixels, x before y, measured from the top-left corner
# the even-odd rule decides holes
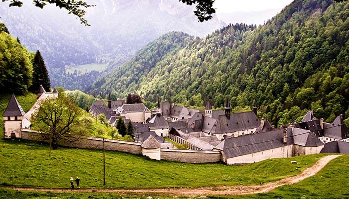
[[[259,119],[253,111],[233,113],[230,114],[229,119],[225,115],[220,115],[213,126],[211,133],[225,134],[258,128],[259,126]]]

